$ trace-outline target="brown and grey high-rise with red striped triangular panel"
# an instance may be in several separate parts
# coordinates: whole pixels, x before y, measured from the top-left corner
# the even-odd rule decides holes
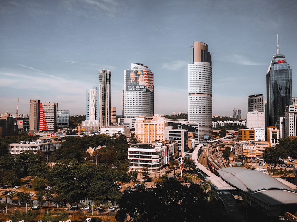
[[[30,99],[29,132],[56,132],[58,103]]]

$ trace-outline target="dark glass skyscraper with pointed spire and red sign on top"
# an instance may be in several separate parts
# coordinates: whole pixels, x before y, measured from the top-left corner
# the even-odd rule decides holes
[[[286,107],[292,104],[292,70],[284,54],[279,53],[278,37],[277,54],[272,57],[266,74],[266,90],[266,126],[275,126]]]

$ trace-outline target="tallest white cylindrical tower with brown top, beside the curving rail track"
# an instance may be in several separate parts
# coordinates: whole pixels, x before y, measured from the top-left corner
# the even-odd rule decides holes
[[[199,126],[199,141],[212,138],[212,54],[207,44],[194,42],[189,48],[188,117]]]

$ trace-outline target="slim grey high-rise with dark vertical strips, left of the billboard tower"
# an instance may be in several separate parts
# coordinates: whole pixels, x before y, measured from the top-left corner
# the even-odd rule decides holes
[[[110,70],[99,70],[98,86],[98,115],[99,125],[111,125],[111,73]]]

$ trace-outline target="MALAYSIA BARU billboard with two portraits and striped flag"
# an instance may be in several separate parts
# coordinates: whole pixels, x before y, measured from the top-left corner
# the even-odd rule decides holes
[[[126,70],[126,91],[152,92],[154,88],[154,73],[148,70]]]

